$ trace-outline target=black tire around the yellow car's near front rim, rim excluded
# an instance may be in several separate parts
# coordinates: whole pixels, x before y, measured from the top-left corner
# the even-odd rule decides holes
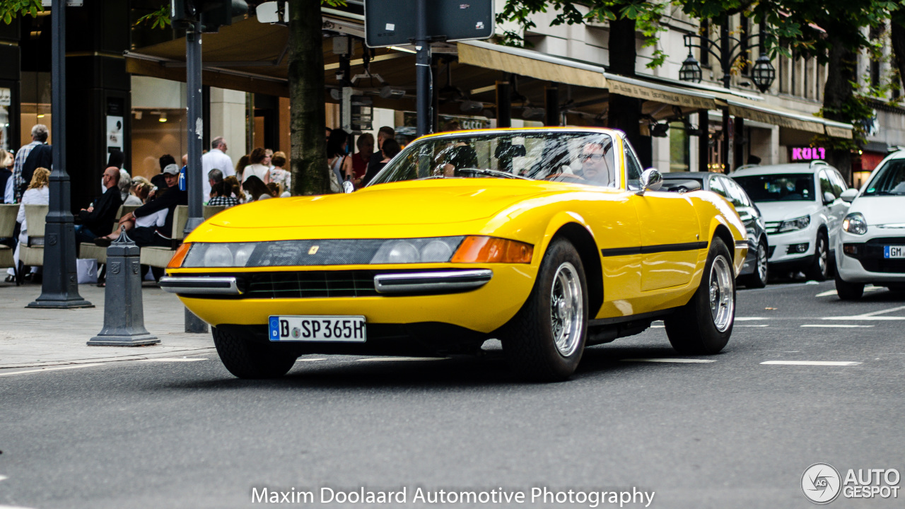
[[[571,269],[567,266],[571,265]],[[571,270],[574,269],[574,273]],[[567,354],[559,350],[556,343],[553,318],[554,284],[557,274],[565,271],[566,276],[580,287],[580,316],[576,317],[576,334],[569,335],[572,341],[564,345]],[[574,284],[574,283],[573,283]],[[562,288],[562,281],[559,282]],[[575,247],[565,239],[554,239],[543,261],[540,263],[538,279],[534,282],[528,300],[512,320],[501,330],[500,340],[503,352],[512,370],[519,377],[531,381],[559,381],[567,379],[578,367],[585,351],[587,339],[587,283],[585,267]]]

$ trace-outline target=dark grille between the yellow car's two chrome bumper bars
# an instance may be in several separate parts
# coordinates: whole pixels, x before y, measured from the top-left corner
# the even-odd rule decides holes
[[[375,271],[303,271],[253,274],[243,299],[374,297]],[[381,274],[386,274],[382,271]]]

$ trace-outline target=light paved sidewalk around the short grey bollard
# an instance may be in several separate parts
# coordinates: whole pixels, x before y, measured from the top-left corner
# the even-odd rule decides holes
[[[147,284],[147,283],[146,283]],[[117,360],[139,360],[208,353],[214,349],[210,332],[187,334],[185,307],[172,293],[145,286],[142,299],[145,328],[160,343],[145,347],[88,346],[104,323],[104,289],[79,287],[81,297],[95,305],[78,310],[26,309],[41,295],[40,284],[0,282],[0,370],[59,366]]]

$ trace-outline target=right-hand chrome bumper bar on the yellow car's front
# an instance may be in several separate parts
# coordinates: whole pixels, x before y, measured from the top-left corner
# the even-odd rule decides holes
[[[377,274],[377,293],[446,293],[479,288],[493,277],[493,271],[444,271],[408,274]]]

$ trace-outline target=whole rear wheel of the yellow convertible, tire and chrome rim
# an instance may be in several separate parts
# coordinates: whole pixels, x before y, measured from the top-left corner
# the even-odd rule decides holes
[[[714,237],[698,291],[689,303],[663,320],[666,335],[679,353],[710,355],[729,342],[735,322],[735,274],[726,244]]]

